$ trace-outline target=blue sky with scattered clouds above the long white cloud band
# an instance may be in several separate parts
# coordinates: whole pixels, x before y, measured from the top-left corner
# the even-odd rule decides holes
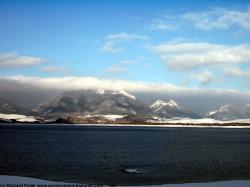
[[[249,92],[250,2],[0,1],[0,76]]]

